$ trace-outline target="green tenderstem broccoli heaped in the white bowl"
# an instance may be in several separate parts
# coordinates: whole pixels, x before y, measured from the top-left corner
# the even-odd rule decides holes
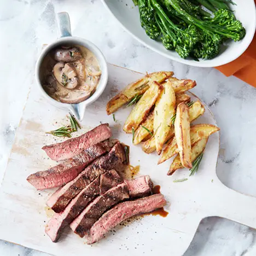
[[[245,37],[231,0],[138,0],[141,25],[154,40],[186,59],[212,59],[228,39]],[[201,8],[205,6],[208,11]],[[211,12],[212,11],[212,12]]]

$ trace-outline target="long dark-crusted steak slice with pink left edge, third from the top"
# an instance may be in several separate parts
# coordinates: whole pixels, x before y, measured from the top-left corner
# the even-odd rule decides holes
[[[119,166],[125,161],[124,148],[120,142],[110,150],[110,152],[95,160],[91,165],[85,168],[77,178],[67,183],[62,188],[55,191],[50,199],[46,202],[51,209],[60,213],[65,210],[67,204],[83,189],[89,185],[100,174]]]

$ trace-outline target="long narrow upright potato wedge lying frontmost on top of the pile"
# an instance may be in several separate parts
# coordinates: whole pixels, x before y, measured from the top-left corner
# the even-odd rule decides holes
[[[192,168],[189,108],[184,102],[179,103],[176,109],[174,134],[182,165],[186,168]]]

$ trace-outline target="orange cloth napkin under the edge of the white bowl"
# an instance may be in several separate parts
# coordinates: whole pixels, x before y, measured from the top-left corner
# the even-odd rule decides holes
[[[254,2],[256,3],[256,0]],[[216,68],[227,77],[235,75],[235,77],[256,87],[256,34],[254,34],[252,43],[245,53],[236,60]]]

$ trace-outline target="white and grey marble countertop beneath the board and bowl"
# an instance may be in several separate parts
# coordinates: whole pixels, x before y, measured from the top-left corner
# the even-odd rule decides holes
[[[232,189],[256,196],[256,90],[234,77],[226,78],[216,69],[182,65],[147,49],[119,26],[100,0],[0,1],[0,181],[42,44],[56,38],[55,13],[59,11],[68,11],[73,35],[94,42],[109,63],[139,72],[172,70],[178,78],[195,79],[193,92],[208,104],[221,129],[220,180]],[[46,254],[0,241],[0,255]],[[256,231],[229,220],[207,218],[184,255],[256,255]]]

